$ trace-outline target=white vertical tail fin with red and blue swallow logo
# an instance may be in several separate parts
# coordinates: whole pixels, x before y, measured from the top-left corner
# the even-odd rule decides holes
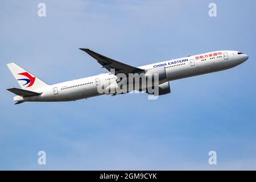
[[[32,75],[18,64],[9,63],[7,64],[7,67],[10,69],[11,73],[13,73],[13,76],[18,81],[20,87],[24,90],[35,90],[47,86],[45,82]]]

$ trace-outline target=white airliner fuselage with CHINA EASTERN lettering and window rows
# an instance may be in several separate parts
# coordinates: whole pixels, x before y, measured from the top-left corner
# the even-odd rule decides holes
[[[247,59],[247,55],[243,53],[238,54],[238,51],[214,51],[160,63],[148,64],[138,68],[147,70],[151,68],[166,67],[167,81],[172,81],[233,68]],[[75,101],[99,96],[104,93],[98,93],[98,86],[101,84],[113,84],[113,82],[116,82],[116,78],[117,77],[111,73],[105,73],[78,80],[61,82],[59,84],[48,85],[44,88],[34,90],[35,92],[42,93],[39,96],[24,98],[15,96],[14,101]]]

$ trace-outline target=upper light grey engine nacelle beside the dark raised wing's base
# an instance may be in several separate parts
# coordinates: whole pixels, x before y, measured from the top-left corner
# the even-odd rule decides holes
[[[167,81],[165,67],[147,69],[147,71],[146,71],[147,78],[151,78],[152,81],[155,81],[154,78],[156,78],[156,77],[154,75],[158,75],[159,84],[162,84]]]

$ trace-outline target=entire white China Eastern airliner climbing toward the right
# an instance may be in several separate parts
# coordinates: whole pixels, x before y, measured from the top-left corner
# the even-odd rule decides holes
[[[88,48],[80,49],[96,59],[97,62],[102,65],[102,68],[107,69],[109,73],[48,85],[46,82],[40,80],[19,65],[9,63],[7,64],[7,67],[9,67],[11,73],[13,73],[21,87],[21,89],[7,89],[17,95],[14,97],[15,104],[21,104],[23,102],[76,101],[103,94],[115,96],[119,94],[116,91],[120,86],[118,85],[120,82],[120,76],[118,75],[122,74],[129,76],[130,74],[137,73],[144,74],[144,78],[149,78],[150,74],[157,74],[158,88],[156,90],[158,92],[155,90],[155,92],[152,93],[147,92],[147,84],[141,84],[139,86],[139,91],[144,90],[146,93],[161,96],[171,93],[169,82],[172,80],[233,68],[249,58],[249,56],[240,51],[214,51],[143,65],[141,67],[134,67],[110,59],[104,55],[100,55]],[[139,82],[141,82],[141,80]],[[102,89],[103,85],[105,86],[103,92],[99,92],[99,88]],[[109,91],[110,89],[114,91],[107,92],[107,90]],[[129,87],[125,93],[130,92],[130,90],[134,90],[134,86]],[[122,94],[123,93],[124,92],[122,92]]]

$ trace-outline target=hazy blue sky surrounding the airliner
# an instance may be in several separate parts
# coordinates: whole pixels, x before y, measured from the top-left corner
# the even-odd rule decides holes
[[[46,17],[38,3],[46,3]],[[210,18],[208,5],[217,5]],[[256,169],[254,1],[1,1],[0,169]],[[170,82],[171,94],[14,105],[7,63],[48,84],[222,49],[249,60]],[[47,164],[38,165],[44,150]],[[217,165],[208,152],[217,152]]]

